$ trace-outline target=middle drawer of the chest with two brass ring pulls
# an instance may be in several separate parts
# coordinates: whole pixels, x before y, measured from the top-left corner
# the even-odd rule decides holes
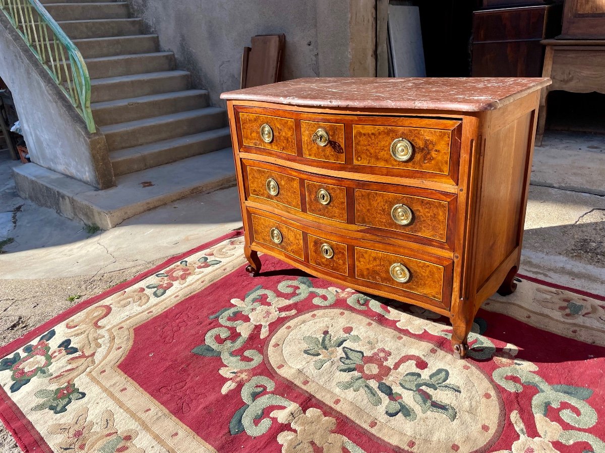
[[[456,195],[243,161],[246,201],[364,234],[453,249]]]

